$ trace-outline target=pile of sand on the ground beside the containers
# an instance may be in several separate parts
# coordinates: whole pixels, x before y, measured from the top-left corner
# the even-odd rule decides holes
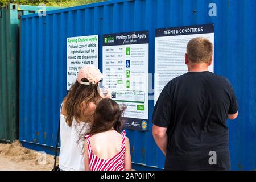
[[[24,148],[18,140],[0,144],[0,171],[51,171],[54,156]]]

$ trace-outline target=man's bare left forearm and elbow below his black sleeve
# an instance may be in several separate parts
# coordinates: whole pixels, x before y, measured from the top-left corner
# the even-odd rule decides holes
[[[159,127],[156,125],[153,125],[153,137],[155,139],[155,143],[157,146],[162,150],[163,154],[166,155],[166,148],[168,143],[168,137],[167,137],[167,127]]]

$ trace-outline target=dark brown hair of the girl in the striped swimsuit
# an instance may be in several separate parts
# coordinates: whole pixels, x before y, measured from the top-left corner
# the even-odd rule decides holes
[[[121,108],[117,102],[110,98],[102,99],[94,111],[93,122],[90,126],[88,134],[94,135],[114,128],[118,133],[121,132],[123,121],[122,114],[126,106]]]

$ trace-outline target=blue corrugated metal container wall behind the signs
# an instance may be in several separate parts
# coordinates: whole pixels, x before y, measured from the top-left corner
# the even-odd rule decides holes
[[[216,3],[217,17],[208,15]],[[67,94],[67,42],[70,36],[148,30],[149,72],[154,73],[155,28],[214,23],[214,71],[228,77],[240,115],[228,121],[232,169],[256,169],[256,1],[109,1],[22,16],[20,58],[20,140],[53,146],[59,107]],[[99,42],[102,70],[102,41]],[[153,79],[154,81],[154,79]],[[154,109],[150,100],[149,119]],[[150,132],[127,131],[135,164],[163,168],[164,157]]]

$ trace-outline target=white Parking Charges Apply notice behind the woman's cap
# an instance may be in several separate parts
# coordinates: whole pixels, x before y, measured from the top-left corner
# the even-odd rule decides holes
[[[85,65],[98,68],[98,35],[67,38],[67,90]]]

